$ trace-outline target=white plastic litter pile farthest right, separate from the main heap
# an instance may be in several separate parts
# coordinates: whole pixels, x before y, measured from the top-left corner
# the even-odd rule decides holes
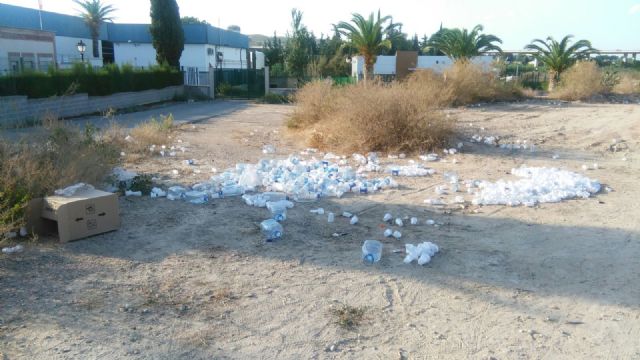
[[[473,199],[475,205],[534,206],[564,199],[588,198],[600,191],[600,183],[567,170],[546,167],[520,167],[511,173],[521,179],[480,182]]]

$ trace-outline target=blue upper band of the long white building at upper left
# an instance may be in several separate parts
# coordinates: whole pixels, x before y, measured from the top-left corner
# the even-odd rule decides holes
[[[0,4],[0,26],[40,30],[37,9]],[[42,11],[42,28],[57,36],[90,39],[91,33],[78,16]],[[219,29],[208,24],[183,25],[185,44],[210,44],[248,48],[249,37],[234,31]],[[100,40],[112,42],[151,43],[149,24],[103,24]]]

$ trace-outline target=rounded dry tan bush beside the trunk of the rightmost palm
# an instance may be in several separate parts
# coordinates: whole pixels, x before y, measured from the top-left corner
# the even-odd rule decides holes
[[[580,61],[562,74],[560,85],[549,94],[562,100],[586,100],[606,91],[602,71],[590,61]]]

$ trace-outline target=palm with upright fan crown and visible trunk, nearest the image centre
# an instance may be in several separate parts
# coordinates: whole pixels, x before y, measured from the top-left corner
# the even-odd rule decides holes
[[[393,35],[394,31],[402,24],[393,23],[391,16],[381,17],[380,11],[378,11],[377,18],[374,18],[373,13],[366,19],[360,14],[352,14],[352,16],[351,23],[341,21],[335,25],[335,28],[338,33],[346,36],[351,45],[364,57],[364,81],[366,83],[369,75],[373,74],[373,64],[376,62],[376,57],[383,50],[391,47],[389,36]]]

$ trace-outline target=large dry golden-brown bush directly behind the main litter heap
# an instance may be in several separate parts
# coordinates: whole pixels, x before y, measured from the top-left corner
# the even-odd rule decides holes
[[[438,81],[412,79],[342,87],[311,84],[299,90],[298,108],[289,126],[302,129],[309,145],[322,149],[433,149],[447,141],[453,125],[441,110],[449,100],[446,89],[440,88],[442,80]]]

